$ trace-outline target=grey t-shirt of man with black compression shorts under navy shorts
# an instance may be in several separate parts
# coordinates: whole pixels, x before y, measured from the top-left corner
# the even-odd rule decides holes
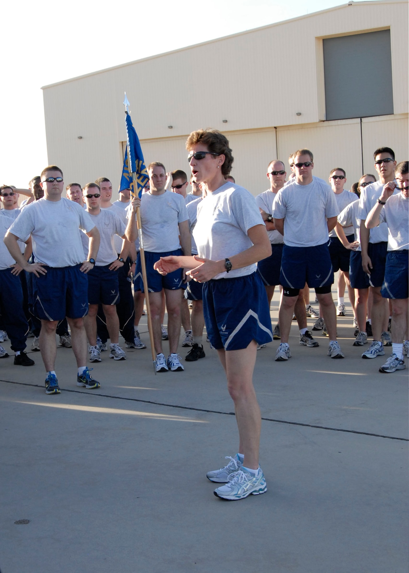
[[[328,242],[327,219],[337,217],[339,210],[331,187],[314,178],[309,185],[294,183],[278,191],[273,217],[284,219],[284,244],[309,247]]]

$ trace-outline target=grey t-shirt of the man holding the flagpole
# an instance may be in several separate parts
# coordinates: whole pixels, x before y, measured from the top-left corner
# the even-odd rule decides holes
[[[127,209],[127,218],[131,208]],[[167,253],[180,249],[178,224],[188,221],[182,195],[165,191],[162,195],[143,193],[140,217],[144,249],[152,253]]]

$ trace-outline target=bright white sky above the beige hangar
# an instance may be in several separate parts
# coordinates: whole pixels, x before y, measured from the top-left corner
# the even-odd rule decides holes
[[[48,164],[41,86],[341,3],[347,2],[5,2],[1,9],[0,184],[27,187]]]

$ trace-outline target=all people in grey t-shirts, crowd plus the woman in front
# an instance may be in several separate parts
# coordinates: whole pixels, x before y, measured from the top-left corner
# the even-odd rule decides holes
[[[184,370],[178,354],[181,325],[182,347],[189,348],[184,360],[205,358],[206,325],[207,342],[226,373],[239,430],[238,452],[207,478],[222,484],[215,495],[236,500],[266,491],[258,465],[261,417],[253,369],[257,350],[272,340],[280,341],[277,362],[291,358],[292,320],[302,346],[318,347],[314,336],[321,332],[328,336],[328,356],[344,358],[337,316],[345,316],[347,289],[353,346],[364,347],[372,338],[363,359],[384,356],[389,346],[391,355],[379,371],[405,368],[408,162],[397,163],[391,148],[379,147],[373,153],[377,175],[361,176],[349,190],[344,168],[334,167],[328,184],[313,175],[312,152],[299,149],[289,157],[289,176],[281,160],[268,164],[268,189],[254,198],[230,175],[233,153],[220,132],[194,131],[186,148],[190,179],[183,170],[167,172],[163,163],[150,163],[140,199],[125,189],[112,202],[106,177],[65,186],[55,165],[34,177],[29,189],[0,187],[0,342],[9,337],[14,364],[32,366],[25,348],[27,337],[33,337],[31,350],[41,352],[46,370],[45,392],[59,394],[56,334],[60,346],[73,349],[78,386],[94,389],[100,382],[87,362],[101,362],[104,351],[123,362],[123,346],[146,348],[139,333],[145,296],[156,372]],[[20,206],[19,195],[26,195]],[[337,271],[335,305],[331,289]],[[272,325],[269,306],[276,287],[280,309]],[[315,319],[311,331],[308,317]],[[0,358],[8,356],[0,346]]]

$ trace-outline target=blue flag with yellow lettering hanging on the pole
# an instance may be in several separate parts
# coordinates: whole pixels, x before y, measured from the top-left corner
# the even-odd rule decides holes
[[[145,167],[139,138],[136,135],[129,113],[125,116],[125,122],[127,124],[127,149],[125,151],[124,167],[119,190],[131,189],[132,197],[136,197],[137,195],[137,197],[140,198],[142,190],[149,180],[149,176]],[[131,156],[130,161],[128,161],[128,149],[129,155]],[[132,173],[136,174],[135,182],[132,180]]]

